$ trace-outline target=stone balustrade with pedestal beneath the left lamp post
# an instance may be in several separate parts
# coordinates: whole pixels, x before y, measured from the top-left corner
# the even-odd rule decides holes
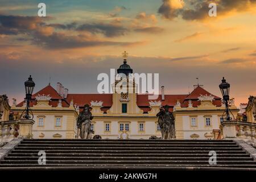
[[[19,119],[0,122],[0,143],[10,142],[14,138],[32,138],[32,119]]]

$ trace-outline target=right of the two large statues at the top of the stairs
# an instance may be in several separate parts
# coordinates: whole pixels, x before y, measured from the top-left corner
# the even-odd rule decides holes
[[[158,124],[162,134],[162,139],[174,139],[175,136],[175,125],[174,115],[169,111],[169,106],[165,105],[160,112],[156,114],[158,118]]]

